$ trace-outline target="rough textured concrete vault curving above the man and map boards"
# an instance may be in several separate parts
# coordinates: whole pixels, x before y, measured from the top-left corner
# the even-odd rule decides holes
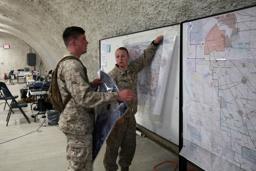
[[[253,4],[255,0],[3,0],[0,1],[0,32],[14,35],[35,49],[48,71],[54,69],[65,53],[63,30],[73,25],[84,28],[89,46],[81,60],[92,80],[100,67],[100,39]]]

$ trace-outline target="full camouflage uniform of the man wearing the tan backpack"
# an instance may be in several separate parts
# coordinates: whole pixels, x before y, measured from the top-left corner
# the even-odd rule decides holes
[[[76,56],[67,51],[65,56]],[[63,102],[72,98],[62,111],[59,129],[67,136],[68,170],[91,170],[94,109],[117,100],[117,92],[94,93],[81,63],[63,61],[58,69],[58,85]]]

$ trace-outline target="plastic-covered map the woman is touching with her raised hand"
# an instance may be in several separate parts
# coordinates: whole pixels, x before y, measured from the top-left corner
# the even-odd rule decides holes
[[[164,37],[163,42],[157,46],[149,65],[138,73],[138,105],[152,110],[152,114],[161,113],[175,37]],[[131,57],[130,61],[141,56],[151,42],[152,40],[129,44],[126,48]],[[140,109],[142,108],[138,107],[138,110]]]

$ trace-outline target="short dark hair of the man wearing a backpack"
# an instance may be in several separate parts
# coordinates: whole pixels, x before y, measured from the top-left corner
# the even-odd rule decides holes
[[[66,47],[69,45],[69,42],[72,39],[78,39],[78,37],[84,33],[85,31],[81,27],[76,27],[76,26],[67,27],[62,35],[63,41]]]

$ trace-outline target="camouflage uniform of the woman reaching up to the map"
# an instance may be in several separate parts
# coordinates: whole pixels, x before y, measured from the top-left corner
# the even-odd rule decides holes
[[[152,42],[144,53],[136,60],[131,61],[128,65],[127,72],[122,71],[116,64],[114,69],[109,72],[110,77],[117,83],[121,90],[133,90],[137,95],[137,73],[148,65],[152,56],[154,55],[157,45]],[[138,100],[127,102],[129,110],[123,116],[124,123],[116,123],[109,137],[106,140],[106,152],[103,164],[106,171],[113,171],[118,169],[116,159],[119,152],[119,162],[121,170],[128,170],[131,165],[135,148],[136,148],[136,120],[135,113],[137,112]]]

